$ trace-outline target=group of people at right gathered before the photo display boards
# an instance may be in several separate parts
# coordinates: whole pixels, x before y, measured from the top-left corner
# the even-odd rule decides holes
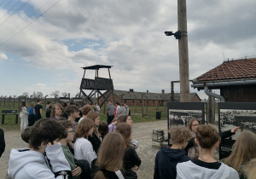
[[[240,127],[218,134],[212,125],[201,125],[196,118],[189,119],[188,127],[172,127],[172,147],[162,147],[156,154],[154,179],[255,179],[256,134],[252,131],[241,132],[228,158],[216,158],[221,140],[238,130]]]

